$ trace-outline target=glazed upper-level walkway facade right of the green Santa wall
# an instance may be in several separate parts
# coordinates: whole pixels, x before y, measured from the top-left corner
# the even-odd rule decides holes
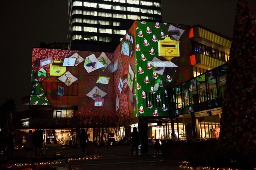
[[[170,116],[221,107],[226,67],[227,64],[223,64],[170,89],[169,92],[173,96],[170,100]]]

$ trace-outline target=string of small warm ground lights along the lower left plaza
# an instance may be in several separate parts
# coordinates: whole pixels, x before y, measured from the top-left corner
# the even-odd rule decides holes
[[[82,157],[82,158],[68,158],[65,159],[65,161],[49,161],[49,162],[38,162],[38,163],[17,163],[17,164],[13,164],[13,167],[22,167],[22,166],[35,166],[35,165],[54,165],[54,164],[62,164],[62,163],[67,163],[69,161],[82,161],[82,160],[91,160],[91,159],[96,159],[99,158],[101,156],[99,155],[94,155],[94,156],[90,156],[90,157]]]

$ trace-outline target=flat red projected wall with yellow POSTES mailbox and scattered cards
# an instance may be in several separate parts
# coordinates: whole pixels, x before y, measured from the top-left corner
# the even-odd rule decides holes
[[[33,48],[30,105],[114,108],[113,54]]]

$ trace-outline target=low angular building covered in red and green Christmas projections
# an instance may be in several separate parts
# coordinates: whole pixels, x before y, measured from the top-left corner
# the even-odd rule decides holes
[[[63,144],[70,113],[103,113],[130,115],[129,131],[145,125],[151,139],[213,137],[230,44],[200,27],[135,21],[113,53],[34,48],[28,128]]]

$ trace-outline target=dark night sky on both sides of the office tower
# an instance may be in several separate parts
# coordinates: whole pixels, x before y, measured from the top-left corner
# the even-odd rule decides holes
[[[203,25],[232,37],[238,0],[162,0],[163,22]],[[256,12],[256,0],[248,0]],[[32,48],[40,42],[67,42],[67,0],[0,1],[0,104],[13,98],[17,110],[27,110],[21,98],[30,95]]]

